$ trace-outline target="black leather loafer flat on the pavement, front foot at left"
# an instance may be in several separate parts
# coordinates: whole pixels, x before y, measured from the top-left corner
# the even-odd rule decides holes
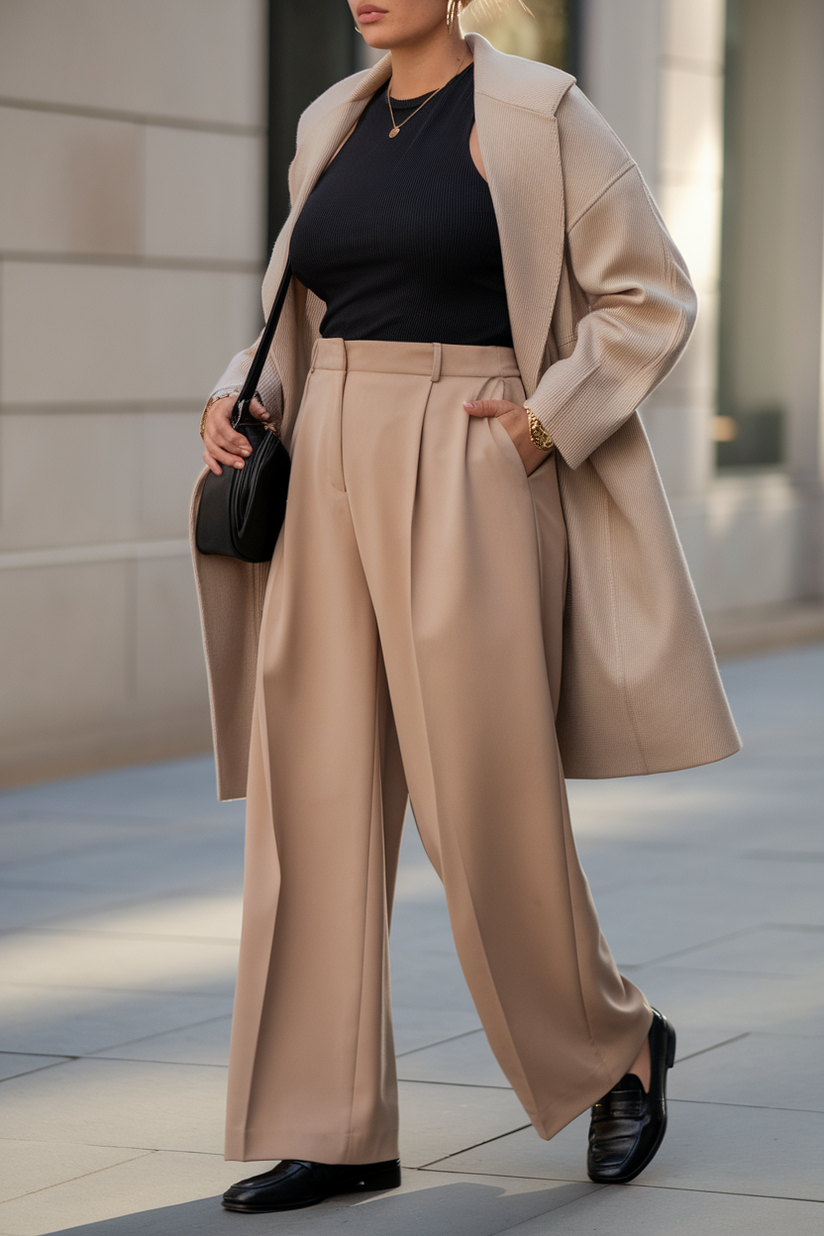
[[[267,1210],[300,1210],[315,1206],[337,1193],[369,1193],[397,1189],[400,1184],[400,1159],[384,1163],[309,1163],[284,1159],[271,1172],[251,1175],[226,1189],[226,1210],[261,1214]]]

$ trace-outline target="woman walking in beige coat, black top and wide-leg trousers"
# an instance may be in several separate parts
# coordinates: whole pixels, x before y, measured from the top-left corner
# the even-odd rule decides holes
[[[447,0],[350,0],[389,54],[301,117],[257,414],[293,460],[269,569],[195,555],[221,797],[247,796],[224,1198],[400,1183],[388,926],[408,792],[469,990],[588,1172],[666,1126],[675,1031],[615,968],[563,775],[739,748],[635,408],[694,318],[637,168],[573,79]],[[230,365],[201,425],[242,467]],[[195,494],[195,509],[196,509]]]

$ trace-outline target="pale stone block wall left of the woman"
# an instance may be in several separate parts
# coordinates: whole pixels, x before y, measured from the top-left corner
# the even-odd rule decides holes
[[[261,316],[264,19],[0,5],[0,782],[209,745],[187,508]]]

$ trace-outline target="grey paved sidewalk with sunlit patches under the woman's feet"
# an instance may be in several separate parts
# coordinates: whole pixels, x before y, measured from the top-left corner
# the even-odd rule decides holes
[[[243,1216],[217,1195],[242,805],[208,760],[0,795],[0,1236],[824,1231],[824,646],[731,662],[733,760],[571,785],[624,971],[672,1018],[670,1132],[629,1187],[541,1142],[406,829],[393,927],[404,1185]]]

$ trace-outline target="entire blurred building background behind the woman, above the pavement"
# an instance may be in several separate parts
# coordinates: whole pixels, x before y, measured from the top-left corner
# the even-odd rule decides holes
[[[644,420],[720,651],[824,635],[822,0],[469,12],[573,72],[700,293]],[[206,750],[198,420],[343,0],[0,0],[0,784]]]

